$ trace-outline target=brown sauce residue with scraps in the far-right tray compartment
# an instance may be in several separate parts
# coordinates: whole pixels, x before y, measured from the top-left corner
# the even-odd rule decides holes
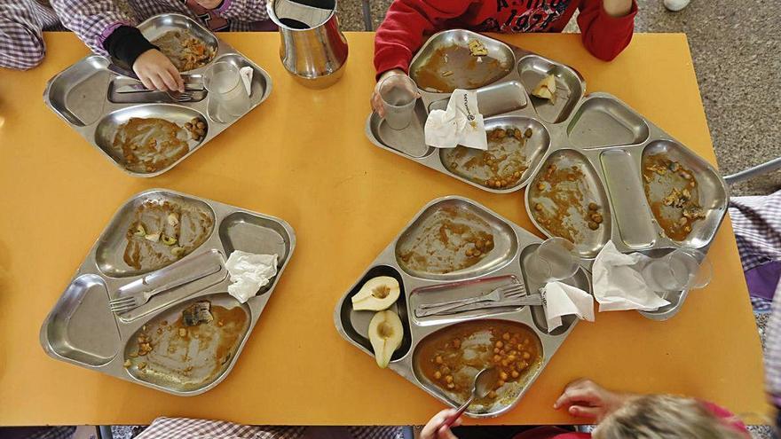
[[[694,173],[665,154],[643,158],[643,187],[653,216],[670,239],[686,239],[692,225],[705,218]]]

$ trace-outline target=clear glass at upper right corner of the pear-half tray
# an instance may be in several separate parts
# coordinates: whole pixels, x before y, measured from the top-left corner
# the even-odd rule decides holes
[[[526,274],[538,282],[572,278],[578,271],[575,246],[564,238],[548,238],[534,250],[526,262]]]

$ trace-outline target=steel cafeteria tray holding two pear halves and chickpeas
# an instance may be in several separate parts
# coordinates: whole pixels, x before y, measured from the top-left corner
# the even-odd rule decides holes
[[[430,268],[422,270],[414,263],[414,258],[409,258],[409,252],[432,248],[429,245],[433,241],[427,241],[427,237],[431,237],[431,233],[437,235],[439,230],[437,224],[441,224],[448,218],[454,223],[466,224],[473,230],[491,233],[493,246],[477,263],[461,270],[443,272],[445,270],[439,270],[444,268],[441,266],[437,270]],[[437,231],[432,232],[432,227]],[[374,311],[353,310],[351,297],[358,293],[360,287],[370,278],[377,276],[396,278],[401,292],[390,310],[395,311],[400,317],[404,327],[404,337],[401,346],[391,357],[389,368],[443,403],[457,406],[461,402],[457,401],[454,395],[439,388],[420,371],[418,365],[422,360],[415,357],[420,343],[438,330],[469,321],[506,320],[524,325],[540,341],[540,361],[530,365],[519,381],[505,384],[493,405],[477,408],[473,405],[467,411],[469,416],[476,418],[499,416],[512,409],[532,386],[564,339],[572,332],[577,318],[563,317],[563,325],[548,333],[545,312],[541,306],[468,310],[444,317],[416,317],[414,310],[422,303],[444,302],[485,294],[493,287],[506,285],[509,282],[522,283],[527,292],[536,292],[541,284],[527,278],[525,261],[533,255],[533,250],[539,243],[540,239],[532,233],[510,223],[475,201],[456,196],[432,200],[376,257],[375,261],[369,264],[368,269],[338,302],[334,312],[336,329],[346,341],[373,357],[367,330]],[[420,252],[418,254],[422,255]],[[448,253],[447,250],[430,255],[433,258],[430,259],[432,266],[440,261],[436,259],[439,256],[444,256],[446,262],[454,263],[453,267],[461,267],[463,264],[463,260],[459,259],[458,255]],[[590,292],[590,279],[586,270],[579,270],[575,276],[565,282]]]

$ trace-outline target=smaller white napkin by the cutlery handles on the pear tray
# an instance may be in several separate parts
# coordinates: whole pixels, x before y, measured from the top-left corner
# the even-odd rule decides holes
[[[548,333],[562,325],[562,316],[574,314],[581,320],[594,321],[594,298],[580,288],[554,281],[540,288],[540,294]]]

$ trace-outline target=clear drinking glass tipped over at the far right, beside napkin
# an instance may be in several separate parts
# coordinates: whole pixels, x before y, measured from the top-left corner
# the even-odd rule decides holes
[[[707,286],[714,273],[704,253],[693,248],[676,248],[647,263],[641,274],[652,290],[670,292]]]

